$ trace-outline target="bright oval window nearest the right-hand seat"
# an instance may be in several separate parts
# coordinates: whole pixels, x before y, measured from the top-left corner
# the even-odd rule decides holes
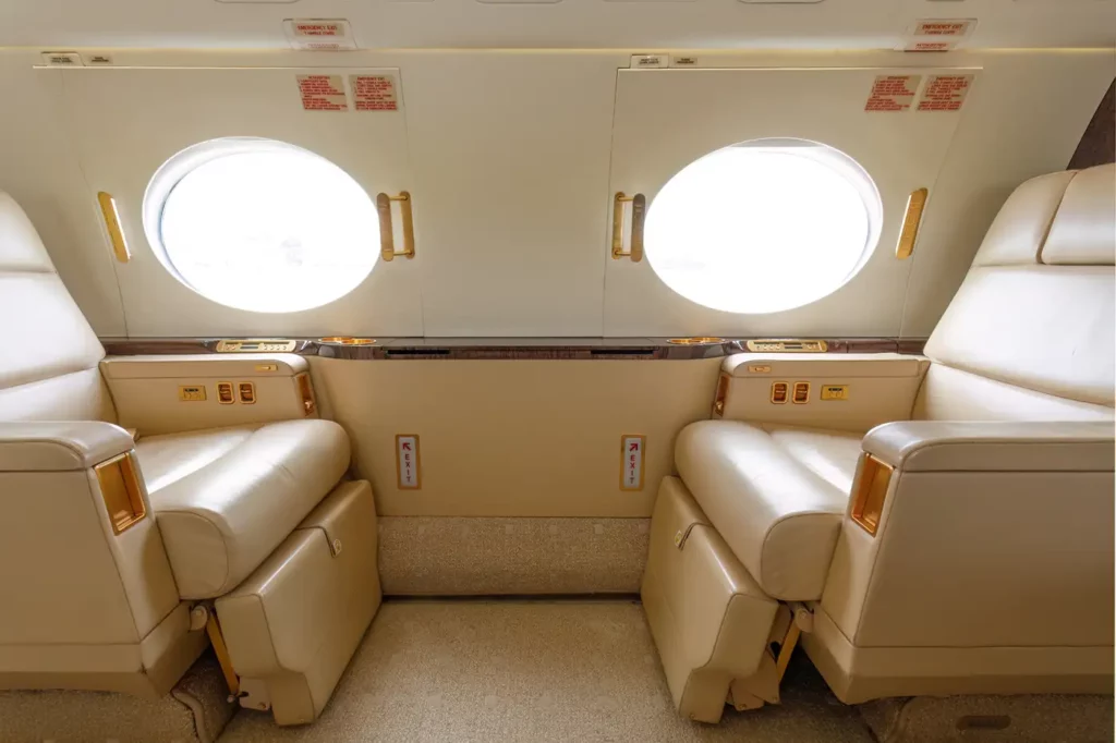
[[[805,139],[753,139],[694,161],[647,212],[647,261],[704,307],[767,313],[845,284],[879,240],[883,204],[848,155]]]

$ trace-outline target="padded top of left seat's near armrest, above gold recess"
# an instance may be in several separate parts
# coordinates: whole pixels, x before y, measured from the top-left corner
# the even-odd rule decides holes
[[[134,445],[124,428],[99,421],[0,422],[0,472],[88,470]]]

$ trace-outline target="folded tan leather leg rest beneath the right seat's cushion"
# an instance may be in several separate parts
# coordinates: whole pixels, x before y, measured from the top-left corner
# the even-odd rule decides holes
[[[768,638],[779,604],[748,575],[676,477],[664,477],[658,491],[641,594],[682,715],[719,722],[730,687],[738,706],[778,699]]]

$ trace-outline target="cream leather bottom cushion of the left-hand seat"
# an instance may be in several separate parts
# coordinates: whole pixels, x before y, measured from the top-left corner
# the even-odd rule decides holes
[[[345,431],[316,419],[151,436],[136,453],[185,599],[235,588],[349,463]]]

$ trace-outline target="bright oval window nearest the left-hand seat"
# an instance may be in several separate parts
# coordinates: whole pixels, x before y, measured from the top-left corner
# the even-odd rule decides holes
[[[254,312],[339,299],[378,257],[364,189],[326,158],[271,139],[215,139],[174,155],[147,186],[143,221],[180,281]]]

